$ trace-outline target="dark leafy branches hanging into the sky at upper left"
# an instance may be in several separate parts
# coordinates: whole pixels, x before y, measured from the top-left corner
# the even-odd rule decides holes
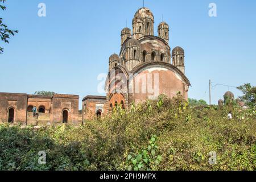
[[[6,6],[3,6],[3,4],[6,2],[6,0],[0,0],[0,9],[3,11],[6,10]],[[15,33],[18,33],[18,30],[10,30],[6,24],[3,24],[3,19],[0,18],[0,37],[1,40],[5,43],[9,43],[10,35],[13,35]],[[0,47],[0,53],[3,53],[3,48]]]

